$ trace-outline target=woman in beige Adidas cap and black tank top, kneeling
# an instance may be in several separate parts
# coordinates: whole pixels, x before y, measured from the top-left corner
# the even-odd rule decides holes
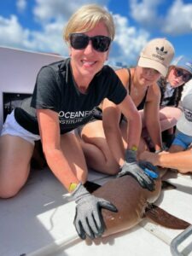
[[[174,56],[174,47],[166,38],[155,38],[143,48],[137,67],[122,68],[115,72],[124,84],[147,127],[154,143],[154,150],[163,148],[160,127],[160,88],[156,84],[160,76],[166,76]],[[92,122],[84,125],[80,133],[81,144],[88,165],[108,174],[116,174],[122,166],[122,155],[127,154],[126,136],[128,123],[113,102],[105,101],[100,113],[95,114]],[[130,129],[130,125],[129,125]],[[135,127],[137,131],[137,127]],[[145,143],[131,148],[129,155],[143,151]]]

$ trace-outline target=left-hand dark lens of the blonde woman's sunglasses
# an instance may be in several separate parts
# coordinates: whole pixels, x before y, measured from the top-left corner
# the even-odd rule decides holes
[[[84,49],[89,44],[89,38],[84,34],[70,35],[70,44],[74,49]]]

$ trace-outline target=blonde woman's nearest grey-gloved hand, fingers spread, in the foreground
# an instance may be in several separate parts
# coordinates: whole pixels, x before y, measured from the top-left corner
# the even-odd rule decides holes
[[[85,239],[86,236],[89,236],[90,239],[94,239],[102,236],[105,230],[102,208],[118,212],[117,208],[109,201],[90,195],[81,183],[73,191],[72,196],[77,203],[73,224],[79,237]]]

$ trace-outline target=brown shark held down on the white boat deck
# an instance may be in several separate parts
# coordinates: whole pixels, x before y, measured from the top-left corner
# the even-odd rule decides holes
[[[189,227],[188,222],[174,217],[154,205],[154,202],[160,197],[162,184],[167,186],[167,183],[161,182],[161,178],[158,177],[155,180],[155,189],[151,192],[148,189],[143,189],[136,179],[128,175],[110,179],[102,186],[89,183],[87,189],[96,189],[93,195],[112,202],[118,209],[118,212],[102,209],[102,217],[106,225],[102,236],[129,230],[139,224],[143,218],[148,218],[156,224],[170,229],[185,230]]]

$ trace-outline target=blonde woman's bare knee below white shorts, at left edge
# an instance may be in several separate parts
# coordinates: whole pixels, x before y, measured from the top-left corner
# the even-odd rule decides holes
[[[16,195],[30,172],[34,146],[17,136],[0,137],[0,197]]]

